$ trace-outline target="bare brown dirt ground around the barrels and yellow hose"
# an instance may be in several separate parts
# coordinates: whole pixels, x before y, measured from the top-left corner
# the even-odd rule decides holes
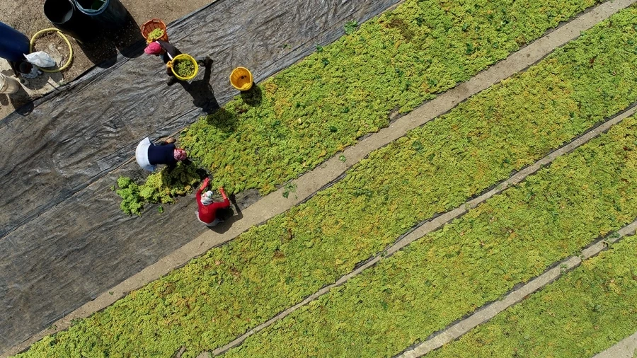
[[[101,67],[113,65],[118,52],[142,39],[139,25],[151,18],[161,18],[163,22],[170,23],[213,2],[213,0],[120,1],[130,13],[129,21],[124,28],[105,32],[96,40],[84,45],[80,45],[72,37],[67,36],[74,52],[71,65],[61,73],[42,74],[36,79],[26,80],[22,90],[11,96],[0,93],[0,120],[28,103],[29,100],[54,91],[55,88],[76,79],[95,65]],[[39,30],[54,27],[44,14],[44,3],[45,0],[0,1],[0,21],[30,38]],[[68,58],[67,44],[56,34],[40,38],[35,43],[35,47],[36,50],[49,53],[57,63],[62,63]],[[109,59],[111,61],[103,63]],[[4,59],[0,59],[0,73],[13,76],[11,67]]]

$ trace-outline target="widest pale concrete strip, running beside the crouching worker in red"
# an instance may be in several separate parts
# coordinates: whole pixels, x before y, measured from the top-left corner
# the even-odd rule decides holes
[[[117,286],[101,294],[93,301],[72,311],[64,318],[56,321],[51,328],[42,330],[20,345],[12,347],[10,350],[4,352],[4,354],[1,354],[0,358],[9,357],[25,350],[34,342],[42,339],[45,335],[57,333],[60,330],[69,328],[71,320],[91,316],[91,314],[110,306],[128,292],[139,289],[139,287],[155,279],[159,279],[159,277],[185,265],[186,262],[202,255],[207,250],[231,241],[243,231],[251,228],[251,226],[263,223],[273,216],[287,211],[294,205],[307,200],[311,195],[314,195],[316,191],[337,180],[348,168],[351,168],[372,151],[386,146],[394,140],[403,137],[411,129],[424,125],[435,117],[448,112],[470,96],[485,90],[503,79],[507,79],[519,71],[527,69],[555,50],[556,47],[560,47],[566,44],[566,42],[575,39],[582,31],[592,28],[592,26],[599,23],[599,21],[609,18],[612,14],[635,2],[637,2],[637,0],[607,1],[581,14],[573,19],[573,21],[553,30],[539,40],[527,45],[527,47],[522,48],[520,51],[511,54],[507,59],[498,62],[498,64],[495,64],[486,71],[482,71],[469,81],[461,83],[452,90],[443,93],[434,100],[420,106],[420,108],[413,110],[413,112],[408,115],[399,118],[389,127],[381,129],[378,133],[363,139],[355,146],[350,146],[348,149],[345,149],[345,151],[343,151],[343,156],[346,158],[344,162],[340,161],[338,155],[333,156],[318,168],[294,180],[294,183],[297,185],[297,190],[291,193],[287,199],[282,197],[283,188],[270,193],[270,195],[264,197],[262,200],[244,209],[243,219],[235,221],[224,233],[208,231],[202,234],[170,255],[167,255],[165,258],[162,258],[136,275],[126,279],[124,282],[117,284]]]

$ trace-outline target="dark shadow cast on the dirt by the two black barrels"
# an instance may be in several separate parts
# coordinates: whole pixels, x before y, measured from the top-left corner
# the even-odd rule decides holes
[[[126,22],[122,27],[104,29],[91,40],[77,42],[88,60],[103,69],[108,69],[117,62],[117,50],[124,57],[134,58],[141,56],[146,47],[139,25],[128,11]]]

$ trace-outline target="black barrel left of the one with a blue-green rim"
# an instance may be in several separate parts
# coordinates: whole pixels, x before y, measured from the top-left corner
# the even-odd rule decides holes
[[[77,10],[74,0],[46,0],[44,12],[56,28],[76,40],[90,40],[96,35],[96,30],[88,26],[88,18]]]

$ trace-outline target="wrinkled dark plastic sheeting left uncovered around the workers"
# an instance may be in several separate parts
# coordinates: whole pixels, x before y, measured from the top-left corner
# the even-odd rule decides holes
[[[166,86],[157,57],[120,55],[29,115],[2,120],[0,353],[206,230],[192,196],[163,214],[120,212],[111,186],[119,175],[146,175],[130,161],[141,139],[176,132],[236,96],[234,67],[263,80],[343,35],[345,22],[396,2],[220,0],[168,26],[182,52],[212,57],[209,81],[201,69],[190,85]]]

